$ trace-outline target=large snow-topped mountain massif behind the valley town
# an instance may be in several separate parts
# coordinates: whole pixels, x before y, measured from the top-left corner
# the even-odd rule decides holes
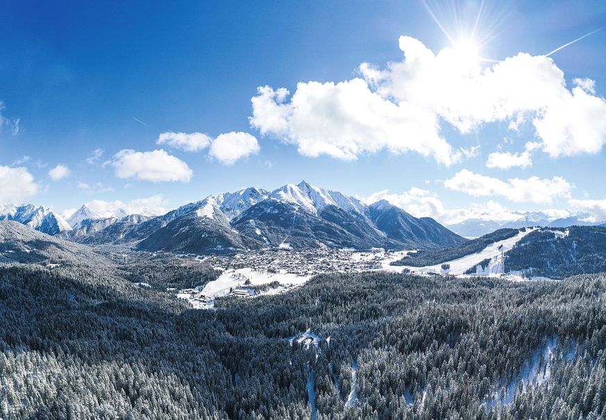
[[[158,217],[97,212],[83,205],[58,232],[83,244],[130,244],[145,251],[222,253],[265,247],[439,249],[466,242],[434,219],[386,201],[366,205],[305,181],[272,192],[249,187],[189,203]]]

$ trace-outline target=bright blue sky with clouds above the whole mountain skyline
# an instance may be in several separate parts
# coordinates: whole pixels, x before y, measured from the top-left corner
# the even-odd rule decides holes
[[[6,4],[0,15],[0,167],[5,168],[0,170],[4,177],[0,201],[32,201],[60,211],[92,200],[127,203],[160,194],[167,210],[208,194],[249,185],[272,189],[305,179],[360,197],[375,194],[413,213],[427,212],[443,220],[454,217],[454,209],[459,209],[456,214],[460,216],[460,210],[470,208],[471,203],[480,212],[495,205],[509,210],[571,209],[606,219],[606,191],[601,182],[606,178],[602,146],[606,133],[600,125],[606,120],[601,105],[606,89],[606,31],[550,56],[554,68],[563,72],[568,92],[575,79],[593,81],[583,85],[584,93],[579,94],[593,102],[587,106],[580,99],[562,102],[564,108],[552,110],[553,99],[566,95],[557,91],[554,79],[536,93],[543,105],[525,103],[521,107],[525,119],[517,130],[511,129],[511,121],[518,118],[519,107],[514,107],[515,115],[486,117],[482,109],[468,110],[468,103],[453,103],[439,80],[435,85],[439,91],[427,95],[435,96],[435,101],[426,103],[420,99],[425,95],[416,92],[412,97],[409,88],[418,87],[422,92],[427,81],[417,83],[407,79],[409,73],[391,73],[372,85],[369,74],[359,67],[368,62],[372,69],[385,73],[388,62],[402,62],[401,35],[418,40],[436,55],[447,47],[455,54],[466,52],[461,50],[461,40],[466,42],[480,10],[472,44],[474,58],[476,52],[482,57],[474,65],[481,69],[520,52],[541,56],[606,22],[603,1]],[[409,43],[407,48],[415,45]],[[549,76],[541,73],[541,62],[532,66],[530,70],[537,69],[537,74],[529,76],[531,82],[532,77],[543,81],[557,76],[554,68]],[[436,77],[441,77],[441,71]],[[518,79],[507,77],[504,80],[515,83],[515,90]],[[525,78],[525,73],[517,77]],[[430,108],[427,115],[436,117],[439,124],[437,135],[452,149],[448,162],[436,158],[437,146],[419,152],[427,142],[411,138],[408,128],[400,133],[398,124],[381,137],[373,137],[375,130],[375,134],[355,140],[354,156],[339,156],[343,151],[339,126],[343,109],[330,107],[351,104],[337,103],[336,96],[331,96],[336,93],[325,84],[354,79],[365,79],[369,92],[387,103],[386,110],[396,106],[390,103],[400,101]],[[304,90],[297,90],[297,83],[311,81],[320,83],[322,92],[318,92],[325,101],[308,98],[307,104],[313,104],[316,113],[297,115],[303,111],[295,110],[282,121],[284,127],[275,130],[269,119],[277,114],[268,112],[279,112],[278,108],[259,110],[257,123],[251,124],[251,99],[259,97],[257,87],[284,87],[290,92],[283,102],[271,102],[268,97],[268,103],[294,106],[293,97],[299,95],[297,101],[304,106]],[[408,83],[404,93],[396,86],[400,82]],[[530,83],[531,88],[534,85]],[[355,103],[357,96],[350,87],[343,86],[342,93]],[[530,99],[523,100],[532,102],[533,95],[530,92]],[[472,99],[478,103],[470,94]],[[359,111],[360,119],[368,114]],[[552,122],[559,123],[559,115],[578,119],[557,127]],[[470,122],[472,127],[461,130],[447,121],[449,116]],[[532,124],[537,116],[546,119],[542,135]],[[383,128],[391,121],[381,118],[360,124]],[[343,121],[345,125],[352,122]],[[352,122],[356,127],[354,123],[359,121]],[[308,125],[302,128],[302,124]],[[334,139],[316,139],[312,146],[302,146],[302,139],[310,135],[310,124],[329,124]],[[566,146],[557,140],[562,134],[557,130],[573,133]],[[183,144],[179,147],[174,142],[156,144],[161,133],[167,132],[204,133],[208,144],[198,151],[183,150]],[[218,136],[234,132],[254,136],[256,146],[248,140],[240,144],[231,142],[232,137],[221,137],[225,147],[220,147],[220,141],[214,147]],[[395,136],[393,142],[382,145],[391,135]],[[400,135],[406,137],[403,145]],[[593,142],[585,144],[586,138]],[[537,145],[526,146],[528,142]],[[335,144],[338,152],[331,149]],[[238,150],[232,150],[234,147]],[[466,154],[455,156],[461,147]],[[154,156],[145,153],[158,149],[165,156],[155,156],[158,159],[147,163]],[[346,149],[352,150],[350,146]],[[103,153],[87,162],[95,150]],[[120,151],[130,151],[122,154],[128,159],[117,156]],[[238,156],[245,151],[247,156]],[[487,167],[494,152],[517,153],[518,159],[530,160],[532,166],[516,160],[518,166],[509,169]],[[165,162],[166,156],[174,160]],[[495,162],[499,160],[498,165],[503,166],[504,159],[496,156]],[[172,165],[175,160],[187,165],[188,171],[177,167],[177,174],[167,176],[169,165],[165,163]],[[54,180],[49,171],[59,164],[67,170],[53,172]],[[145,169],[125,167],[131,164]],[[149,176],[155,170],[153,165],[162,168]],[[124,171],[119,173],[120,169]],[[532,177],[540,182],[529,183]],[[20,187],[19,183],[27,185]],[[31,188],[32,183],[36,187]],[[493,207],[486,207],[489,202]]]

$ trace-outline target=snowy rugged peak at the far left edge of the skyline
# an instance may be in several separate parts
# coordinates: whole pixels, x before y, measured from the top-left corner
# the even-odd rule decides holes
[[[42,233],[56,235],[57,233],[71,230],[71,226],[56,212],[44,205],[0,205],[0,220],[14,220],[39,230]]]

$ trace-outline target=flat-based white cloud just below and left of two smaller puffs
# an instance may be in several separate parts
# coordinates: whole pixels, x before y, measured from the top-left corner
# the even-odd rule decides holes
[[[116,153],[110,164],[115,167],[118,178],[136,178],[154,183],[188,182],[193,175],[186,162],[169,155],[163,149],[145,152],[125,149]]]

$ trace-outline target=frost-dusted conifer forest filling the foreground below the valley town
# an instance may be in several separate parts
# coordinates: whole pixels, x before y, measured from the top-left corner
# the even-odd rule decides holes
[[[211,311],[161,290],[163,276],[179,283],[188,270],[199,276],[193,268],[151,274],[163,260],[112,261],[0,266],[3,419],[606,414],[603,275],[323,275],[279,296],[220,299]]]

